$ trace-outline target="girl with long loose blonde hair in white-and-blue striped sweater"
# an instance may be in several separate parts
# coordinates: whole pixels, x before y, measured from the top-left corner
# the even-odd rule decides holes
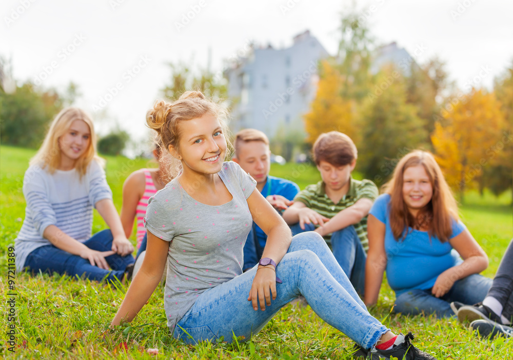
[[[77,108],[63,109],[23,180],[27,207],[15,240],[18,271],[124,281],[125,270],[133,263],[133,246],[101,164],[89,115]],[[91,237],[93,207],[110,230]]]

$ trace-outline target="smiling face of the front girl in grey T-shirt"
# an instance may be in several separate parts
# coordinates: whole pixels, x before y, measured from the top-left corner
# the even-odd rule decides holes
[[[226,156],[226,139],[219,120],[211,115],[183,121],[180,127],[180,153],[184,173],[191,170],[199,174],[221,171]]]

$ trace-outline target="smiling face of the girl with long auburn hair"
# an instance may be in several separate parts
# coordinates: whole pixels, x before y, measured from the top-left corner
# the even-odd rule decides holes
[[[403,200],[410,214],[417,215],[433,196],[433,186],[423,165],[407,167],[403,174]]]

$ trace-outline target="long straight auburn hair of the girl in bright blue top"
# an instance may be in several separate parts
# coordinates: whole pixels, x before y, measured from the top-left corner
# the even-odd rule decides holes
[[[408,167],[417,165],[424,166],[433,188],[433,195],[417,217],[413,218],[403,199],[403,175]],[[458,206],[432,154],[415,150],[405,155],[383,188],[385,193],[390,195],[390,227],[396,240],[406,237],[407,228],[419,223],[429,225],[429,236],[435,235],[441,242],[449,240],[452,222],[459,220]]]

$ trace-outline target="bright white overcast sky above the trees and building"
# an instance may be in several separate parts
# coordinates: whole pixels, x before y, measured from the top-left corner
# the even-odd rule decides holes
[[[206,67],[210,49],[211,69],[220,71],[249,40],[287,47],[307,29],[335,54],[340,14],[350,7],[330,0],[3,0],[0,55],[12,61],[17,80],[58,90],[77,83],[77,105],[93,117],[103,107],[140,139],[145,113],[169,79],[168,62]],[[410,54],[422,47],[420,64],[438,55],[460,88],[480,72],[491,88],[513,61],[510,0],[371,0],[357,7],[378,43],[396,41]],[[100,131],[107,127],[98,123]]]

